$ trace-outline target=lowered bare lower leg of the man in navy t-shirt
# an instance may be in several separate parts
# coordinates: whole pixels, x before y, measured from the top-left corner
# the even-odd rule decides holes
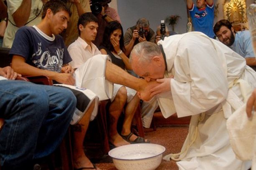
[[[91,103],[91,106],[84,114],[84,117],[79,121],[78,124],[73,126],[74,133],[74,145],[73,145],[73,158],[74,158],[74,168],[81,167],[93,167],[91,161],[84,154],[84,137],[89,126],[91,113],[94,110],[95,101]],[[93,170],[93,168],[92,168]],[[97,168],[97,170],[100,170]]]

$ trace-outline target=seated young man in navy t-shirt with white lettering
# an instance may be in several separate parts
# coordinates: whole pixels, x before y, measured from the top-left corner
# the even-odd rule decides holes
[[[73,126],[74,168],[99,170],[86,157],[83,150],[84,136],[98,98],[87,89],[71,86],[75,83],[74,70],[67,65],[71,61],[71,57],[62,37],[58,35],[67,27],[69,16],[70,11],[63,2],[48,1],[42,10],[42,21],[33,27],[21,27],[16,33],[10,50],[10,55],[13,55],[12,67],[18,73],[26,76],[46,75],[53,81],[62,83],[62,86],[71,89],[77,98],[78,118],[74,116],[73,118],[79,121]],[[76,114],[74,115],[76,116]]]

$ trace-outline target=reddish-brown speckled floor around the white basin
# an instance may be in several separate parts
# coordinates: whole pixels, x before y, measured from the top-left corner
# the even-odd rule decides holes
[[[157,127],[157,131],[145,129],[145,138],[149,139],[151,143],[165,146],[166,150],[164,155],[180,152],[187,134],[188,126],[162,126]],[[100,160],[100,163],[96,163],[96,165],[101,168],[101,170],[117,170],[109,156]],[[162,160],[157,170],[178,170],[178,168],[175,161]]]

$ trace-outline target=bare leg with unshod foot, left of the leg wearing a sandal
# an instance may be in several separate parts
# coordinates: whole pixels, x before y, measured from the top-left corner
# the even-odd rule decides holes
[[[124,140],[117,132],[117,121],[124,108],[124,104],[127,100],[127,91],[124,86],[122,86],[114,101],[109,107],[109,141],[115,146],[128,145],[126,140]]]

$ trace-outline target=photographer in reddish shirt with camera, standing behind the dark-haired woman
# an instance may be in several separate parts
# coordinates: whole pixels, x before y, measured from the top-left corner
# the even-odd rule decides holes
[[[91,0],[91,12],[98,18],[99,29],[94,44],[99,47],[103,40],[103,34],[106,26],[111,21],[121,23],[120,17],[112,7],[109,7],[111,0]]]

